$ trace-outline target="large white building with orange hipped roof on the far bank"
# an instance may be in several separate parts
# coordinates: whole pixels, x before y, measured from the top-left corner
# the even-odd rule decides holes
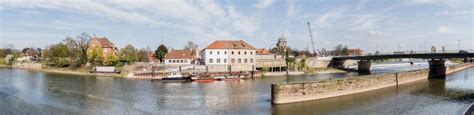
[[[216,40],[201,51],[205,65],[255,65],[255,48],[243,40]]]

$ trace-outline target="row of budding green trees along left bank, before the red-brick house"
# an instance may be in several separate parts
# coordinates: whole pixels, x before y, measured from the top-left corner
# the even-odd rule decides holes
[[[57,67],[82,67],[87,63],[92,65],[117,65],[130,64],[137,61],[147,61],[150,50],[136,49],[133,45],[127,45],[120,49],[118,55],[110,52],[103,55],[103,49],[99,46],[89,47],[91,36],[82,33],[77,37],[66,37],[63,41],[49,45],[43,51],[43,61],[51,66]]]

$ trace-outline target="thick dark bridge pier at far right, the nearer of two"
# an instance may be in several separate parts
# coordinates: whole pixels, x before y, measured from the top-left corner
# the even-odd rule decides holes
[[[443,59],[431,59],[428,61],[430,65],[430,72],[428,78],[430,79],[445,79],[446,78],[446,67],[444,66]]]

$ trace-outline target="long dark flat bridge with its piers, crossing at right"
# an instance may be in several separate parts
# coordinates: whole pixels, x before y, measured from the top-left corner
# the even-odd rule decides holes
[[[370,73],[370,66],[373,60],[381,59],[400,59],[400,58],[413,58],[413,59],[428,59],[429,63],[429,78],[445,78],[446,67],[445,59],[450,58],[461,58],[464,62],[471,62],[474,58],[474,53],[426,53],[426,54],[388,54],[388,55],[369,55],[369,56],[339,56],[333,57],[329,67],[336,69],[343,69],[344,62],[346,60],[359,60],[357,62],[357,71],[359,73]]]

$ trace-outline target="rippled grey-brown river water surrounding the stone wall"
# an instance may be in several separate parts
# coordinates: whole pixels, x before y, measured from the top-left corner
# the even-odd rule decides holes
[[[426,65],[374,66],[376,74]],[[382,71],[382,72],[379,72]],[[474,101],[474,68],[354,95],[272,105],[271,84],[286,77],[213,83],[52,74],[0,68],[0,114],[461,114]],[[292,76],[333,79],[354,73]]]

